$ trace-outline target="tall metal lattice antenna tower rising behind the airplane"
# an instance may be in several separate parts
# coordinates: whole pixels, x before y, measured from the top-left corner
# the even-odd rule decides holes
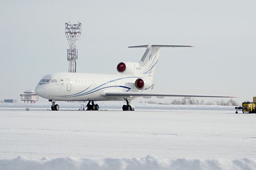
[[[68,39],[69,49],[68,61],[69,61],[69,70],[68,72],[77,72],[77,62],[78,59],[78,50],[76,49],[79,37],[82,32],[82,23],[70,24],[65,23],[65,34]]]

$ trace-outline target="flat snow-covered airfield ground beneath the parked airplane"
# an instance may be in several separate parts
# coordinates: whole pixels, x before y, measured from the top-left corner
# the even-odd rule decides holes
[[[256,114],[145,103],[124,112],[123,103],[0,103],[0,170],[256,169]]]

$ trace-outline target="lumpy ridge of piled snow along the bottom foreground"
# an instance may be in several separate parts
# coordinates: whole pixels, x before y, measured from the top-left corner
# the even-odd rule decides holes
[[[0,170],[255,170],[255,159],[164,159],[148,155],[133,159],[57,158],[0,160]]]

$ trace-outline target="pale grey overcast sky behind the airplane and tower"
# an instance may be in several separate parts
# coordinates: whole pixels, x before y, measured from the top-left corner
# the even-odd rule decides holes
[[[255,7],[255,0],[4,0],[0,101],[20,101],[44,75],[68,72],[69,21],[82,23],[77,72],[116,74],[119,62],[138,62],[145,51],[128,46],[191,45],[162,49],[152,92],[252,101]]]

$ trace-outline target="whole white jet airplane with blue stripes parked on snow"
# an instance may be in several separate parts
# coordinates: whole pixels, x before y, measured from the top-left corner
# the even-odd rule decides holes
[[[146,48],[138,63],[121,62],[117,66],[118,74],[92,74],[58,72],[44,76],[36,86],[36,94],[52,102],[52,110],[59,110],[57,101],[87,101],[87,110],[98,110],[96,101],[125,100],[123,110],[134,110],[131,100],[138,97],[217,97],[146,93],[153,89],[153,76],[162,47],[192,47],[176,45],[143,45],[129,48]]]

